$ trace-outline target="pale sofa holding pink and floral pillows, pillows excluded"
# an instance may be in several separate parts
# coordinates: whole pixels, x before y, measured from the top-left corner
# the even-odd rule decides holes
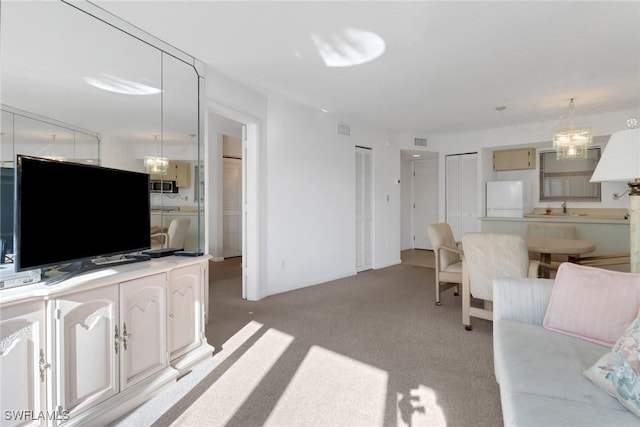
[[[610,348],[542,326],[553,284],[494,280],[494,362],[504,425],[638,427],[640,418],[582,375]]]

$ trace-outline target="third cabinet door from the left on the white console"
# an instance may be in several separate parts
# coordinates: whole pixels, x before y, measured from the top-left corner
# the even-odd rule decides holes
[[[167,366],[166,274],[120,284],[122,390]]]

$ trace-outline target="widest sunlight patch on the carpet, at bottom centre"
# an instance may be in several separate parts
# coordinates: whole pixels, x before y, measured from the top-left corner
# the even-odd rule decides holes
[[[265,426],[381,426],[388,374],[312,346]]]

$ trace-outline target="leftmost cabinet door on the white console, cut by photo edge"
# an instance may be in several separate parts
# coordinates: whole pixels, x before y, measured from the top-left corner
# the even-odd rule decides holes
[[[2,425],[40,425],[20,421],[11,413],[38,414],[46,407],[48,372],[40,378],[40,351],[44,351],[44,302],[18,304],[0,310],[0,408]],[[44,359],[43,359],[44,361]],[[7,411],[9,411],[7,413]]]

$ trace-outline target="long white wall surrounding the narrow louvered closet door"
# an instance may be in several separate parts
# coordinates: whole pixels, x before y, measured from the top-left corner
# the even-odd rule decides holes
[[[356,274],[355,147],[373,151],[373,268],[400,262],[400,151],[382,131],[270,99],[269,293]]]

